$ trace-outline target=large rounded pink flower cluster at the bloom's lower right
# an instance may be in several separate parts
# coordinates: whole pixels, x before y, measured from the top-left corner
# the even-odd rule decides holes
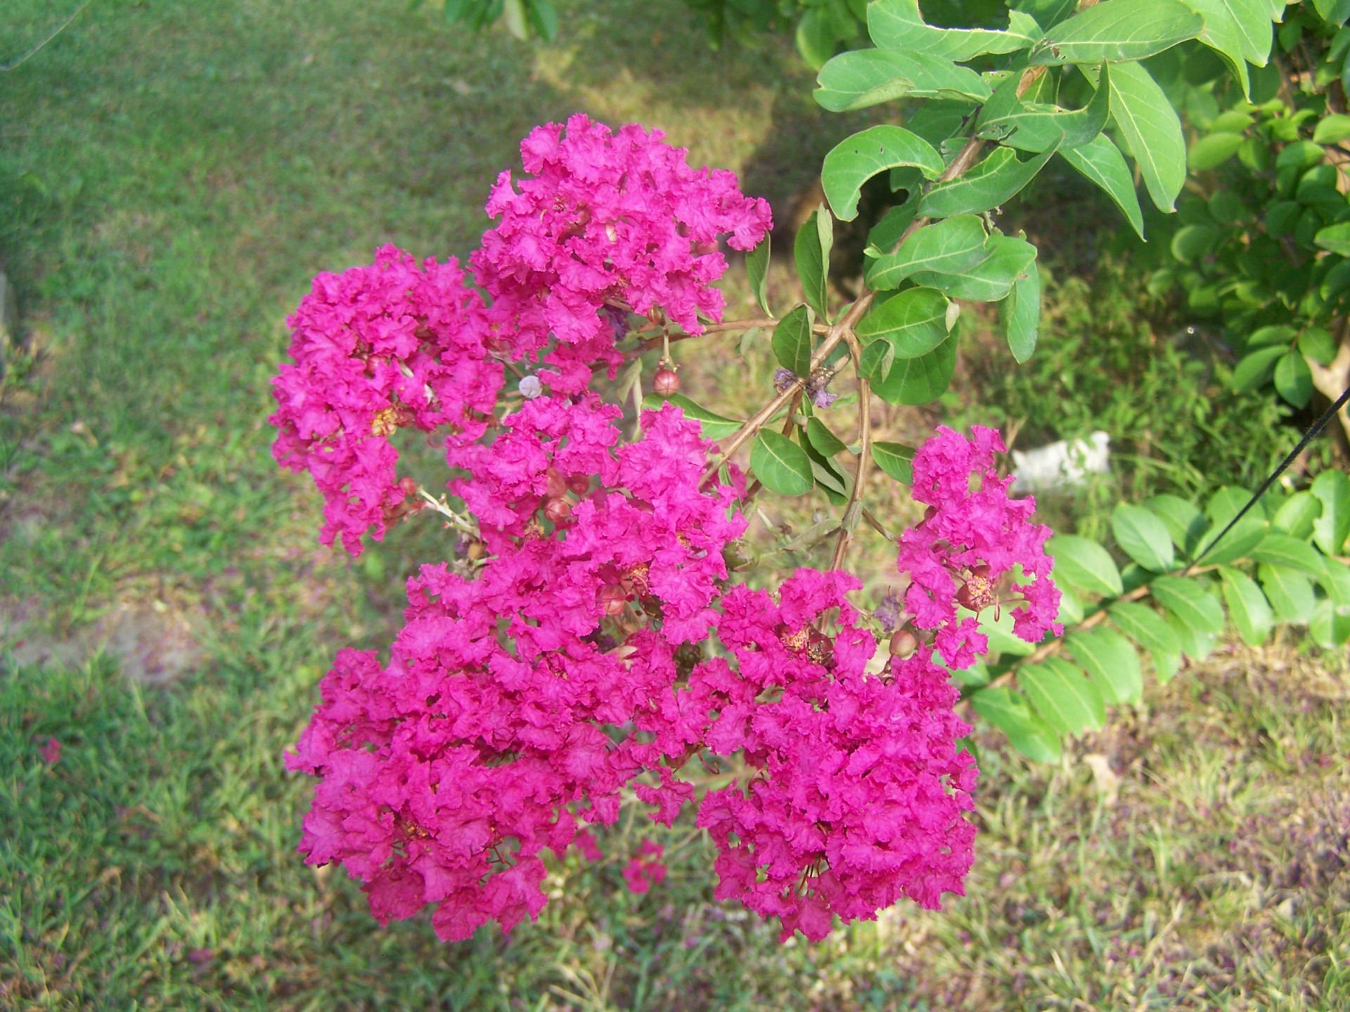
[[[964,812],[977,770],[956,748],[971,730],[959,694],[926,650],[890,679],[865,675],[876,642],[844,596],[857,586],[798,569],[776,603],[745,588],[725,599],[722,637],[748,684],[726,685],[717,725],[734,721],[734,733],[714,725],[710,741],[757,772],[710,791],[698,824],[721,849],[718,899],[780,918],[783,938],[824,938],[834,915],[875,919],[902,896],[936,908],[963,892],[973,860]],[[833,636],[817,633],[836,607]]]

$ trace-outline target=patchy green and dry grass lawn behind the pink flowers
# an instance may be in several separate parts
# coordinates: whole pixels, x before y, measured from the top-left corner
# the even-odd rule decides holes
[[[7,0],[0,63],[77,5]],[[775,197],[846,132],[786,43],[711,53],[679,0],[562,8],[526,46],[405,0],[94,0],[0,74],[0,262],[32,343],[0,381],[0,1008],[1350,1008],[1350,675],[1296,638],[1220,650],[1062,768],[983,741],[969,896],[819,946],[714,903],[691,824],[628,893],[634,810],[510,938],[381,930],[302,864],[282,750],[437,551],[425,528],[323,549],[317,495],[271,461],[309,278],[386,242],[463,255],[520,138],[578,109]],[[1091,318],[1061,290],[1056,318]],[[688,375],[734,402],[728,362]]]

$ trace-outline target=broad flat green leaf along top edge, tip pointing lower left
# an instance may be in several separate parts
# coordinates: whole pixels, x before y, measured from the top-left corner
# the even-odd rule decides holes
[[[1196,38],[1200,15],[1177,0],[1103,0],[1050,28],[1031,47],[1033,65],[1145,59]]]

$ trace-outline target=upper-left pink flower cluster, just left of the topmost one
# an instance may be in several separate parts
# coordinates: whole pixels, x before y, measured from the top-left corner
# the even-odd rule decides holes
[[[381,540],[414,507],[389,436],[441,429],[462,445],[486,430],[502,367],[485,348],[483,304],[454,258],[418,267],[386,246],[369,267],[315,278],[286,322],[294,364],[273,381],[273,456],[324,494],[323,542],[340,534],[360,555],[362,534]]]

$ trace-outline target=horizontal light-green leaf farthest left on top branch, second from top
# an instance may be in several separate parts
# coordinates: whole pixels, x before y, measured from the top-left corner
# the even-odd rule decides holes
[[[830,112],[895,99],[964,99],[981,103],[990,86],[973,70],[923,53],[880,49],[841,53],[821,67],[815,101]]]

